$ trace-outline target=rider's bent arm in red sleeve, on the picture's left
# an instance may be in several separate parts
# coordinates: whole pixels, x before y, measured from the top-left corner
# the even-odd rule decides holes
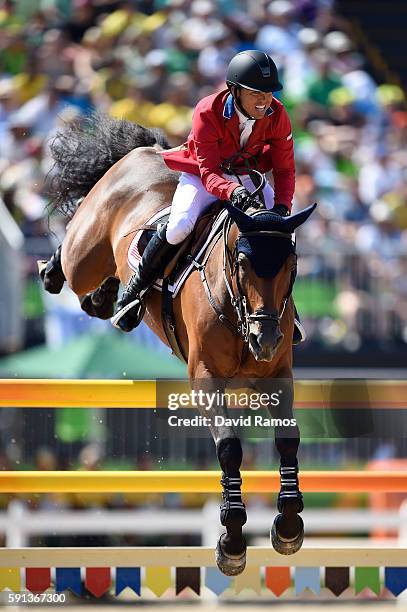
[[[199,164],[202,184],[206,191],[220,200],[229,200],[239,183],[228,181],[222,176],[220,143],[221,126],[211,109],[195,110],[192,120],[195,155]]]

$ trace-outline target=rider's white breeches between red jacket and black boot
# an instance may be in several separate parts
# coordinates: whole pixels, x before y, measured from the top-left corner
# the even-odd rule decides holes
[[[225,175],[225,178],[231,180],[233,177]],[[240,180],[246,189],[254,191],[255,186],[247,174],[240,176]],[[236,183],[238,182],[236,178]],[[266,208],[273,208],[274,190],[268,181],[266,181],[263,194]],[[198,217],[213,202],[216,202],[216,197],[206,191],[199,176],[182,172],[171,204],[166,233],[168,242],[179,244],[189,236]]]

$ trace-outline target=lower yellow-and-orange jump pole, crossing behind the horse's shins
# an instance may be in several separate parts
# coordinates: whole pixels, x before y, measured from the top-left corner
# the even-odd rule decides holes
[[[4,471],[2,493],[220,493],[218,471]],[[242,471],[245,493],[277,493],[278,472]],[[406,493],[405,471],[304,471],[307,493]]]

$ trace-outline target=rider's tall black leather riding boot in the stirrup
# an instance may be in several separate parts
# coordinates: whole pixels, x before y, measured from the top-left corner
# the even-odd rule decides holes
[[[137,272],[133,274],[116,305],[112,317],[114,327],[129,332],[142,321],[145,305],[142,295],[164,273],[165,267],[177,253],[180,245],[166,239],[167,224],[159,228],[147,244]]]

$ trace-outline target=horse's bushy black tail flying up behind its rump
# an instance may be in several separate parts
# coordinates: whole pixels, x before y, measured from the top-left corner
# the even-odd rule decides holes
[[[103,113],[67,124],[50,144],[55,163],[48,180],[49,212],[72,217],[111,166],[133,149],[154,144],[169,147],[161,130]]]

